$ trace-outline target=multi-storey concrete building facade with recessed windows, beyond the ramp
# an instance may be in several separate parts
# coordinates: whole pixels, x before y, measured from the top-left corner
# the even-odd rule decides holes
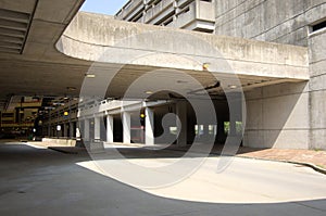
[[[214,31],[214,0],[130,0],[115,15],[117,20]]]

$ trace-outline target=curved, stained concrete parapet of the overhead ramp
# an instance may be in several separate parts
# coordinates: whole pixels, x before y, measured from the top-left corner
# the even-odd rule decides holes
[[[244,90],[309,79],[306,48],[126,23],[85,12],[72,21],[57,49],[114,69],[124,65],[121,80],[149,68],[187,71],[208,85],[208,72],[225,80],[236,77]]]

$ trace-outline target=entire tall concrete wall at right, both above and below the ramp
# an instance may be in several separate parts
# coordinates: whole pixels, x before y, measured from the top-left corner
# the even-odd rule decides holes
[[[326,0],[216,0],[215,34],[309,47],[309,82],[247,92],[244,145],[326,149]]]

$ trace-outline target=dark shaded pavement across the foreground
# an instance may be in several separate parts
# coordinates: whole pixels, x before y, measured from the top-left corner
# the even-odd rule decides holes
[[[0,215],[326,214],[325,199],[278,204],[212,204],[159,198],[77,165],[87,161],[89,156],[84,153],[63,154],[21,143],[0,144]]]

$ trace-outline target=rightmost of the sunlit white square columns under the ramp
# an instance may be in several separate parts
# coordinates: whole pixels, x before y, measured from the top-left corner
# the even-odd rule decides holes
[[[150,107],[145,109],[145,144],[154,144],[154,112]]]

